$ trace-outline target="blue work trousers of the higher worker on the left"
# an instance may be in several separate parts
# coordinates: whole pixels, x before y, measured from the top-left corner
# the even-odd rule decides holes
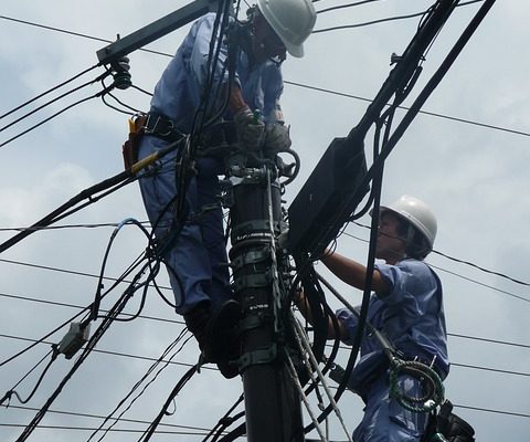
[[[167,141],[144,136],[138,157],[145,158]],[[139,179],[147,214],[161,242],[171,243],[162,259],[173,290],[177,313],[184,315],[198,303],[210,301],[212,309],[231,297],[223,212],[219,200],[218,173],[222,161],[201,158],[197,161],[197,176],[192,177],[186,200],[189,213],[180,233],[169,233],[174,217],[174,199],[180,189],[176,181],[177,151],[166,155],[145,170]]]

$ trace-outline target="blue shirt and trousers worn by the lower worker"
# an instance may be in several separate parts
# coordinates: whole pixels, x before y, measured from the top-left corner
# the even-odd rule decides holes
[[[447,333],[439,280],[422,261],[404,260],[395,265],[378,264],[388,283],[388,294],[372,294],[368,320],[381,330],[407,358],[433,361],[442,378],[449,370]],[[337,317],[346,327],[351,344],[358,318],[348,309]],[[379,343],[367,329],[361,357],[349,379],[349,388],[365,402],[364,417],[353,432],[356,442],[418,442],[426,427],[426,413],[405,410],[389,397],[389,376]],[[401,380],[407,394],[418,396],[412,378]]]

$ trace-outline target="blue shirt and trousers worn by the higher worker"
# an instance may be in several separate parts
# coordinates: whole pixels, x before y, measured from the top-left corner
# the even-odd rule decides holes
[[[180,131],[192,129],[208,78],[210,42],[215,14],[209,13],[193,23],[177,54],[170,61],[155,88],[151,112],[162,114]],[[223,43],[214,66],[215,85],[227,81],[227,48]],[[236,60],[235,83],[252,110],[258,110],[265,123],[280,115],[279,96],[283,80],[279,65],[272,61],[252,65],[243,51]],[[216,86],[215,86],[216,87]],[[142,137],[139,158],[144,158],[168,141],[155,136]],[[176,155],[168,155],[140,178],[140,189],[148,217],[158,222],[156,235],[162,239],[173,217],[168,204],[179,189],[176,185]],[[222,208],[218,175],[223,171],[219,158],[202,157],[197,161],[198,175],[187,189],[189,221],[163,256],[177,303],[177,313],[186,314],[201,301],[210,299],[216,308],[231,297]],[[208,210],[203,210],[206,209]]]

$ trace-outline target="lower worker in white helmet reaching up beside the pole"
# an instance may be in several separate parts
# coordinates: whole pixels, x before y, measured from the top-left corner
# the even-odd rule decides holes
[[[441,379],[449,370],[442,284],[424,263],[433,250],[436,219],[421,200],[403,196],[393,204],[381,207],[375,264],[367,320],[381,332],[404,360],[430,366]],[[338,253],[327,253],[322,263],[347,284],[364,290],[367,269]],[[304,294],[297,301],[300,312],[310,319]],[[352,344],[358,316],[349,309],[337,312],[337,336]],[[329,325],[328,338],[336,337]],[[356,442],[420,442],[426,430],[428,413],[405,409],[391,394],[389,359],[380,341],[365,329],[361,355],[348,388],[364,401],[364,417],[353,432]],[[399,388],[409,397],[422,397],[418,379],[400,377]]]

